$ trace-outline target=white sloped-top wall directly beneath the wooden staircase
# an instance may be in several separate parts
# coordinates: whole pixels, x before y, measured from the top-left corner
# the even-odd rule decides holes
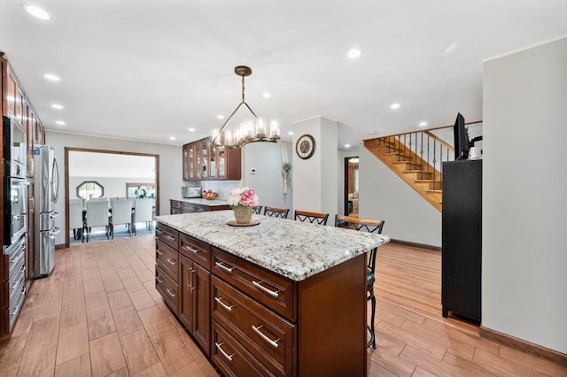
[[[384,219],[392,239],[440,247],[441,212],[363,145],[359,156],[360,217]]]

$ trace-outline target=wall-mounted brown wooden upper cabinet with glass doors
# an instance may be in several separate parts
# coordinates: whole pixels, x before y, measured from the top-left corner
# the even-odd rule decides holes
[[[240,180],[240,150],[220,149],[210,137],[183,145],[183,180]]]

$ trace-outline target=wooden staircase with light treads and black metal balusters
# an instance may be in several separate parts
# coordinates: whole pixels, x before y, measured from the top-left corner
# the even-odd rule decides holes
[[[454,159],[453,146],[434,135],[434,130],[390,135],[364,141],[364,147],[425,200],[442,212],[441,165]],[[447,131],[447,130],[445,130]]]

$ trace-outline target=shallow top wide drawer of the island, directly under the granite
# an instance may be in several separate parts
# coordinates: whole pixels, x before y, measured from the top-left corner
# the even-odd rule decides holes
[[[214,275],[267,305],[283,317],[297,320],[297,284],[217,248],[213,250]]]

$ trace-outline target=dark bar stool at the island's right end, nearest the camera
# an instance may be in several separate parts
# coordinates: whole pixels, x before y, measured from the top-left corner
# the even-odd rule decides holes
[[[383,219],[360,219],[352,216],[335,215],[335,227],[358,230],[360,232],[382,233],[384,227]],[[372,316],[370,317],[370,340],[367,347],[376,348],[376,335],[374,334],[374,316],[376,314],[376,296],[374,296],[374,271],[376,270],[376,257],[378,248],[370,250],[368,264],[366,265],[366,300],[372,304]]]

